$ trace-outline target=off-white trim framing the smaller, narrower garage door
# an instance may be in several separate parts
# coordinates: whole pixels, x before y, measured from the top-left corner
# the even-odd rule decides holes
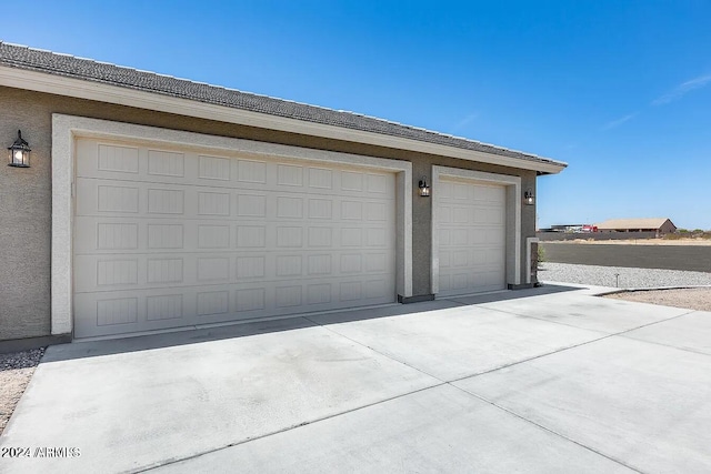
[[[521,178],[510,177],[507,174],[485,173],[483,171],[460,170],[449,167],[432,167],[432,264],[431,281],[432,294],[440,291],[440,255],[439,233],[434,232],[439,229],[439,209],[438,188],[440,179],[457,178],[472,183],[499,184],[505,186],[507,192],[507,255],[505,255],[505,275],[508,284],[521,283]],[[513,230],[511,232],[510,230]]]

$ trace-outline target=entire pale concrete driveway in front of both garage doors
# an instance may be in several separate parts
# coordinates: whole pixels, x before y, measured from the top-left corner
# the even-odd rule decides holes
[[[53,346],[0,472],[710,472],[711,313],[594,293]]]

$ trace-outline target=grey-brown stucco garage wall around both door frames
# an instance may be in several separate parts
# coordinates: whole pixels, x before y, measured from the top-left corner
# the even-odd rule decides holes
[[[0,88],[0,140],[3,140],[0,144],[4,148],[12,144],[21,129],[32,149],[32,168],[14,169],[0,163],[0,340],[50,333],[52,113],[411,161],[413,295],[431,293],[432,200],[421,198],[417,184],[422,175],[430,181],[433,164],[519,175],[521,189],[535,192],[534,171]],[[525,238],[535,235],[535,206],[523,205],[521,219],[521,282],[524,282]]]

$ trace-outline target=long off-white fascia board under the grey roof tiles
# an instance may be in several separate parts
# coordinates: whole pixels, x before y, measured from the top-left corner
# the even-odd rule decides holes
[[[284,132],[344,140],[357,143],[368,143],[378,147],[394,148],[398,150],[431,153],[442,157],[458,158],[461,160],[498,164],[501,167],[533,170],[548,174],[560,173],[567,167],[565,163],[549,163],[501,157],[480,151],[464,150],[455,147],[383,135],[374,132],[270,115],[268,113],[251,112],[230,107],[163,95],[154,92],[17,68],[0,67],[0,85],[47,92],[57,95],[96,100],[99,102],[117,103],[208,120],[218,120],[227,123],[237,123],[241,125],[280,130]]]

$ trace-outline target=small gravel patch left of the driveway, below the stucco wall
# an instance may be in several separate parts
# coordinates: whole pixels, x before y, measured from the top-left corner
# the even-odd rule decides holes
[[[43,347],[0,354],[0,434],[43,354]]]

